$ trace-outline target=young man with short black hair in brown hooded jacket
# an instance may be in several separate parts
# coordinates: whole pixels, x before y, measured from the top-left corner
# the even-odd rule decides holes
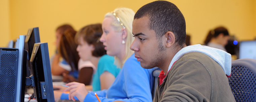
[[[186,23],[168,1],[154,1],[134,16],[131,49],[145,69],[159,67],[153,102],[235,102],[226,77],[231,55],[200,44],[186,46]]]

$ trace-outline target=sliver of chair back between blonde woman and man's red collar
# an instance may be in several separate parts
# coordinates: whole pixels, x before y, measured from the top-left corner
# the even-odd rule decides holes
[[[157,78],[160,74],[162,70],[158,67],[155,67],[154,68],[154,71],[153,71],[153,80],[152,80],[152,84],[153,84],[153,89],[151,90],[151,94],[152,94],[152,99],[154,99],[155,97],[155,90],[156,90],[156,87],[157,87]]]

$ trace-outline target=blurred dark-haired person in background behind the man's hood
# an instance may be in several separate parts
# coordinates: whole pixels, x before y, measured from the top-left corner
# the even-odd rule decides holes
[[[205,45],[213,48],[218,48],[227,52],[227,50],[225,49],[225,45],[227,44],[228,39],[228,30],[225,27],[220,26],[208,32],[208,35],[205,39]]]

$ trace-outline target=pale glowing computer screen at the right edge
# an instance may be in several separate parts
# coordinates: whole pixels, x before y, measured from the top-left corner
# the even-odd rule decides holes
[[[239,59],[256,59],[256,40],[241,41],[239,46]]]

